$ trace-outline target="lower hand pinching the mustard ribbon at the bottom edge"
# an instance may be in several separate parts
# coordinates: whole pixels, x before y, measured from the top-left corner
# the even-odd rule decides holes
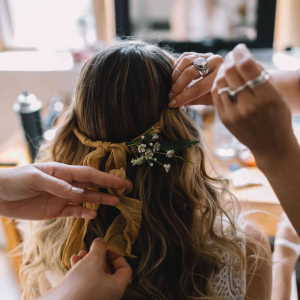
[[[131,280],[132,270],[124,257],[107,261],[107,248],[94,240],[90,252],[72,257],[73,268],[61,284],[40,300],[118,300]],[[113,271],[108,272],[112,266]]]

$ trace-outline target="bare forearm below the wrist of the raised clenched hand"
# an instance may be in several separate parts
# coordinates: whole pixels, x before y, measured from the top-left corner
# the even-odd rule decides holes
[[[276,130],[276,128],[274,128]],[[300,147],[295,142],[281,157],[256,158],[294,228],[300,233]]]

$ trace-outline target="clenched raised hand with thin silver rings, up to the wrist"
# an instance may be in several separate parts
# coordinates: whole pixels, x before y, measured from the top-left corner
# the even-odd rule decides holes
[[[262,67],[252,58],[244,45],[229,53],[213,86],[213,101],[225,126],[253,152],[258,165],[280,160],[297,148],[291,113],[270,81],[246,88],[236,99],[228,93],[218,94],[224,87],[236,89],[246,81],[257,78]]]

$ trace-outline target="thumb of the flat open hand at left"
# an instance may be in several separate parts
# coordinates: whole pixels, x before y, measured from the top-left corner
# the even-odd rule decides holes
[[[84,189],[72,186],[70,183],[41,172],[38,189],[64,199],[82,201]]]

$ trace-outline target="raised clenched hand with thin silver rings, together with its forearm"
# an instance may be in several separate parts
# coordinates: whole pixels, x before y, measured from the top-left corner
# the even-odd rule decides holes
[[[231,101],[218,89],[236,88],[261,74],[244,45],[237,46],[219,69],[213,103],[225,126],[253,152],[258,167],[270,181],[282,207],[300,232],[300,147],[292,130],[291,112],[270,81],[245,89]]]

